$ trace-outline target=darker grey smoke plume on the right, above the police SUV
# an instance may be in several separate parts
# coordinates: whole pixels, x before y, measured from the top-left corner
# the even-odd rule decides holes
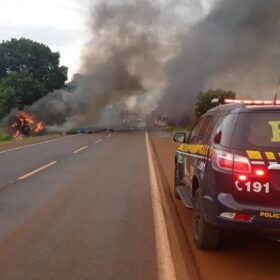
[[[174,120],[190,115],[196,94],[207,88],[273,99],[280,74],[279,11],[277,0],[217,1],[178,35],[181,47],[166,65],[168,86],[159,111]]]

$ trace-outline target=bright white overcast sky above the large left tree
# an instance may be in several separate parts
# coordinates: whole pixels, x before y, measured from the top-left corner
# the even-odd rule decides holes
[[[0,0],[0,41],[26,37],[47,44],[61,53],[61,64],[69,67],[71,78],[90,38],[87,21],[94,1]]]

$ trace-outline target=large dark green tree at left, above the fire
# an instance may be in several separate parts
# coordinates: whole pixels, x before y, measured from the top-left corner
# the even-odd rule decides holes
[[[23,109],[55,89],[65,87],[67,68],[60,54],[29,39],[0,44],[0,119]]]

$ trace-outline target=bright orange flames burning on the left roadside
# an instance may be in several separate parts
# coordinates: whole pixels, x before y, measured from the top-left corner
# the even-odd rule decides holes
[[[12,119],[9,133],[12,137],[40,135],[44,132],[43,122],[36,120],[34,116],[27,112],[18,112]]]

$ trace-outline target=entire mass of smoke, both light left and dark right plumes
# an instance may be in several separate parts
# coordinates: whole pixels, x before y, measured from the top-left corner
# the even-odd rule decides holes
[[[72,90],[29,110],[48,125],[92,125],[110,104],[181,120],[207,88],[273,98],[280,74],[278,0],[100,1]]]

